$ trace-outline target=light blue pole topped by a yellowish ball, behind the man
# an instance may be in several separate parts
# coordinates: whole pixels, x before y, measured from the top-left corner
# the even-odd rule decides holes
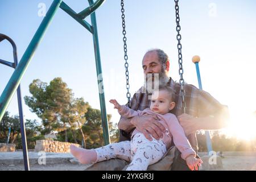
[[[196,65],[196,74],[197,74],[199,89],[203,90],[201,76],[200,76],[200,70],[199,70],[199,61],[200,61],[199,56],[193,57],[193,63],[195,63],[195,65]],[[208,155],[209,155],[209,152],[212,151],[212,140],[210,140],[210,133],[208,130],[205,130],[205,137],[207,139],[207,150],[208,150]]]

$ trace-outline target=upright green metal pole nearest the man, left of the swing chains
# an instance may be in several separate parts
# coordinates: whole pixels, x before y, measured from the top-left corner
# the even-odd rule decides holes
[[[90,5],[93,4],[93,0],[88,0],[88,2]],[[102,119],[104,143],[106,145],[110,143],[109,123],[108,123],[108,117],[106,114],[106,104],[105,104],[103,78],[102,78],[102,70],[101,70],[100,46],[98,44],[98,31],[97,31],[95,12],[90,14],[90,20],[92,22],[92,27],[93,27],[93,45],[94,45],[94,55],[95,55],[95,61],[96,61],[98,89],[99,89],[100,105],[101,105],[101,119]]]

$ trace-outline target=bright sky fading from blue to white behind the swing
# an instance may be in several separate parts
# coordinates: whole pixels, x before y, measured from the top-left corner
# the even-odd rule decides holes
[[[88,7],[85,0],[64,2],[77,13]],[[40,3],[48,10],[52,0],[0,0],[0,33],[15,41],[19,59],[43,20],[38,15]],[[256,119],[251,116],[256,110],[255,5],[253,0],[180,2],[184,79],[198,86],[191,58],[199,55],[203,89],[230,108],[232,121],[226,133],[238,135],[240,129],[238,137],[246,139],[256,135]],[[168,53],[170,76],[178,80],[174,1],[125,1],[125,15],[131,94],[142,85],[141,61],[150,48]],[[120,1],[106,0],[96,16],[106,110],[113,115],[112,121],[118,122],[119,114],[108,101],[127,101]],[[90,18],[86,20],[90,23]],[[12,48],[6,41],[0,43],[0,59],[13,60]],[[0,93],[12,73],[13,69],[0,65]],[[75,97],[84,97],[92,107],[100,109],[92,35],[61,9],[22,79],[22,95],[30,95],[28,85],[32,80],[49,82],[55,77],[62,77]],[[24,118],[37,118],[24,102],[23,108]],[[7,110],[18,114],[16,95]]]

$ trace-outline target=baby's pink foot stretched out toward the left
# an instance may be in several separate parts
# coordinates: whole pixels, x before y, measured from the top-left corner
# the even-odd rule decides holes
[[[97,153],[94,150],[86,150],[76,146],[70,146],[70,152],[81,164],[94,163],[97,160]]]

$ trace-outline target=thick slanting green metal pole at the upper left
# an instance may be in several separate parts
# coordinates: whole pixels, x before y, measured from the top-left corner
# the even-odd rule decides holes
[[[49,26],[49,23],[51,23],[51,20],[55,15],[56,10],[59,8],[60,3],[62,1],[63,0],[54,0],[52,2],[52,5],[47,11],[46,16],[44,17],[42,23],[40,24],[38,30],[36,31],[34,37],[32,38],[26,51],[24,52],[22,59],[19,61],[19,64],[16,67],[9,82],[7,83],[5,89],[3,90],[3,93],[0,97],[0,122],[1,122],[1,119],[3,118],[3,115],[5,114],[5,111],[8,105],[10,104],[11,98],[13,98],[14,96],[15,90],[18,88],[20,81],[24,73],[26,72],[28,64],[30,63],[34,55],[36,48],[38,47],[40,41],[42,40],[44,33],[46,32],[46,29]]]

